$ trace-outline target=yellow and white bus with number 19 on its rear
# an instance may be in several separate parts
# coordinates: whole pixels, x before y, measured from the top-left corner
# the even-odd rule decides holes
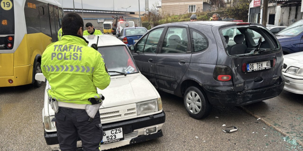
[[[58,40],[63,10],[55,0],[0,0],[0,87],[33,84],[46,46]]]

